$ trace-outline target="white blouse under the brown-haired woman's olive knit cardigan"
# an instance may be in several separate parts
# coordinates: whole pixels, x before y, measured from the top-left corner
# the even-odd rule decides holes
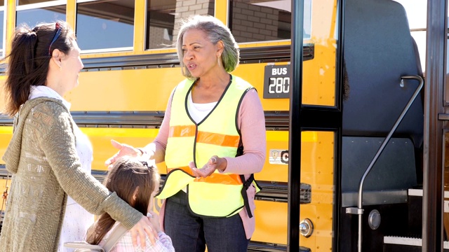
[[[71,104],[62,98],[55,90],[46,86],[32,86],[29,99],[36,97],[51,97],[60,99],[62,104],[70,110]],[[76,137],[76,151],[81,161],[81,167],[86,172],[91,173],[91,164],[93,160],[93,148],[86,134],[83,134],[79,127],[74,125],[74,133]],[[86,237],[88,228],[93,224],[94,216],[83,209],[76,203],[72,197],[67,197],[67,207],[65,208],[64,221],[62,223],[62,231],[59,241],[59,252],[73,251],[72,248],[65,248],[64,243],[67,241],[83,241]]]

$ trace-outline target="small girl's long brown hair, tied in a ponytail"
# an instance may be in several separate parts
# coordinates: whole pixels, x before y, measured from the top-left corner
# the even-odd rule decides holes
[[[126,157],[114,163],[103,184],[109,191],[115,192],[131,207],[146,216],[149,197],[156,186],[159,186],[159,173],[154,166],[148,165],[145,161]],[[138,192],[133,200],[136,188]],[[114,223],[114,219],[109,214],[100,215],[98,221],[88,230],[86,241],[89,244],[99,244]]]

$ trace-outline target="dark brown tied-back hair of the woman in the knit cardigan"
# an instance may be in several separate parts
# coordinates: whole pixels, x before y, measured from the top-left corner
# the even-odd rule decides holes
[[[60,29],[58,38],[51,44]],[[73,48],[75,35],[64,21],[41,23],[36,27],[19,25],[13,35],[6,79],[6,109],[14,116],[22,104],[27,102],[32,85],[45,85],[53,50],[68,54]],[[51,46],[50,46],[51,45]],[[5,59],[6,59],[5,58]]]

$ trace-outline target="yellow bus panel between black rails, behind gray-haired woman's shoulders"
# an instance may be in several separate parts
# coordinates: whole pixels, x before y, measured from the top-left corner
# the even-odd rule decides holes
[[[232,74],[256,88],[264,111],[288,111],[288,99],[262,98],[265,65],[241,64]],[[184,79],[179,67],[86,71],[65,99],[72,111],[165,111],[170,93]]]

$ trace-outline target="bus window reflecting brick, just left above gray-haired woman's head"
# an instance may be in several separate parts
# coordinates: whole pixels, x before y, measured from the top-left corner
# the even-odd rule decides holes
[[[189,15],[213,15],[214,1],[147,0],[145,49],[173,48],[179,21]]]

